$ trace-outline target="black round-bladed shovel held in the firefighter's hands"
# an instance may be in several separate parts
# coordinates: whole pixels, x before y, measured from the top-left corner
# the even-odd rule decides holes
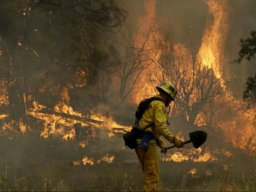
[[[203,145],[203,143],[205,143],[207,139],[207,133],[205,133],[205,131],[193,131],[189,133],[189,138],[190,139],[188,141],[185,141],[182,144],[186,145],[187,143],[192,143],[195,149],[197,149],[198,147]],[[171,147],[167,147],[166,150],[174,147],[174,145]]]

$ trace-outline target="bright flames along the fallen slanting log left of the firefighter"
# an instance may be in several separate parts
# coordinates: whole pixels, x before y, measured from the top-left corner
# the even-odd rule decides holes
[[[68,99],[68,97],[66,97],[66,99]],[[81,117],[81,120],[72,119],[71,117],[62,117],[61,115],[54,113],[43,113],[43,109],[47,109],[47,107],[33,101],[33,109],[28,109],[27,114],[44,121],[44,129],[41,131],[40,136],[45,139],[50,135],[60,135],[65,141],[75,139],[76,135],[73,127],[76,123],[81,123],[81,127],[91,125],[100,129],[107,129],[109,130],[108,136],[110,138],[112,138],[115,133],[125,133],[131,129],[131,126],[119,125],[112,117],[105,117],[101,115],[101,113],[95,113],[89,116],[90,119],[101,121],[101,124],[83,121],[82,118],[85,117],[85,115],[75,111],[73,107],[68,103],[65,103],[65,101],[59,101],[55,105],[54,111],[64,115],[67,114],[73,115],[73,117]],[[85,146],[85,143],[81,144],[81,146]]]

